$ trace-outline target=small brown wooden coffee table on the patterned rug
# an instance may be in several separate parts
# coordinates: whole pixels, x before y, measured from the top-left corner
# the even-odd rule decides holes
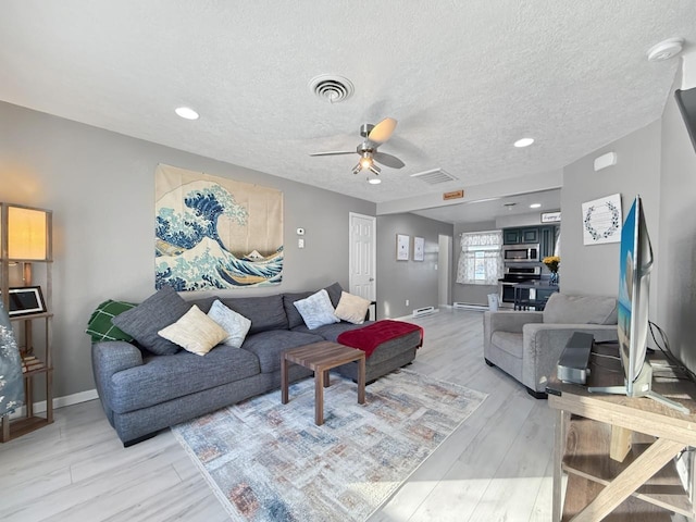
[[[358,403],[365,403],[365,352],[327,340],[291,348],[281,355],[282,402],[288,402],[288,362],[314,372],[314,422],[324,423],[324,388],[328,387],[328,371],[348,362],[358,361]]]

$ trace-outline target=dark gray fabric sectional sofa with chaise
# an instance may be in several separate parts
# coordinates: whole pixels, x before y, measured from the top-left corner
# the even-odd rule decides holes
[[[340,285],[334,284],[326,290],[336,307],[341,295]],[[284,350],[321,340],[336,341],[340,333],[369,324],[341,321],[309,330],[294,302],[312,294],[221,297],[226,307],[251,320],[251,328],[240,348],[219,345],[204,357],[185,350],[154,355],[136,341],[94,343],[92,370],[97,391],[107,418],[124,446],[149,438],[165,427],[279,388]],[[171,295],[177,301],[171,301]],[[149,298],[145,303],[150,306],[152,318],[147,318],[151,324],[146,326],[157,328],[158,321],[163,321],[158,316],[158,306],[161,308],[167,302],[181,306],[178,299],[171,289],[160,290]],[[208,312],[215,299],[187,301],[185,308],[197,304]],[[366,381],[374,381],[411,362],[420,344],[420,333],[412,333],[381,345],[366,361]],[[356,377],[353,363],[339,366],[337,371],[347,377]],[[310,375],[308,369],[289,368],[290,381]]]

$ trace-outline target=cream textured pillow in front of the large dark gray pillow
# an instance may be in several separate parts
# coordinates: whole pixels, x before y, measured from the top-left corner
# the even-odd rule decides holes
[[[227,332],[196,304],[158,334],[198,356],[204,356],[227,337]]]

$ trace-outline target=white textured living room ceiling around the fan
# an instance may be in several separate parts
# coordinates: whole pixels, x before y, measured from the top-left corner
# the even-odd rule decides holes
[[[0,100],[387,202],[558,170],[655,121],[680,62],[646,52],[669,37],[696,42],[694,0],[3,0]],[[316,98],[326,73],[353,96]],[[357,154],[309,157],[385,116],[406,167],[382,185]],[[410,177],[436,167],[458,179]]]

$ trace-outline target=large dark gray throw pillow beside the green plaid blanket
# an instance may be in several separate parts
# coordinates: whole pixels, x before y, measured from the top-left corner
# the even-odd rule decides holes
[[[171,286],[164,286],[137,307],[113,318],[123,330],[146,350],[158,356],[171,356],[179,350],[174,343],[158,335],[160,330],[178,321],[190,308]]]

